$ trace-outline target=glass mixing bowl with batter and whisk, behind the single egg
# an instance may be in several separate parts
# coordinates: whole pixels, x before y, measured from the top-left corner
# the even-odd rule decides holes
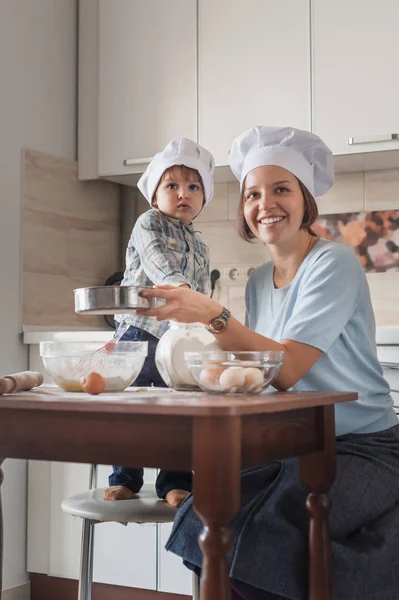
[[[100,352],[98,342],[41,342],[40,356],[50,377],[66,392],[82,392],[80,378],[99,373],[106,392],[121,392],[140,373],[148,342],[118,342],[112,352]]]

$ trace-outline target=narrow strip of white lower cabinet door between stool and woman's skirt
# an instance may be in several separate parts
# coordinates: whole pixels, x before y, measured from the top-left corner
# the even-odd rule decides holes
[[[182,559],[165,550],[173,523],[158,525],[158,591],[192,595],[192,573]]]

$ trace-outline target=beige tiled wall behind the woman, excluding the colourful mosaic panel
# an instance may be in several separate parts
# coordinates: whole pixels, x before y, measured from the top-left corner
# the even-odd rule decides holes
[[[248,243],[236,233],[239,185],[217,183],[215,198],[195,220],[209,244],[212,268],[251,267],[261,264],[267,253],[259,243]],[[318,199],[320,214],[399,209],[399,169],[367,173],[339,173],[333,189]],[[137,212],[148,209],[139,194]],[[377,325],[399,324],[399,273],[368,273]],[[234,316],[244,321],[245,282],[216,284],[214,298],[228,306]]]

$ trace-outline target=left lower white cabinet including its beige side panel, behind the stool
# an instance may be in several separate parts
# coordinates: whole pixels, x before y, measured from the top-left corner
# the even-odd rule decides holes
[[[111,467],[98,468],[105,487]],[[29,461],[28,571],[78,579],[82,520],[61,510],[64,498],[88,489],[89,465]],[[155,470],[145,470],[146,483]],[[94,581],[157,588],[156,524],[100,523],[94,533]]]

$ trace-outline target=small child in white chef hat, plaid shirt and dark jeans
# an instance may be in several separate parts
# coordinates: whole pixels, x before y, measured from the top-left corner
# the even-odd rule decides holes
[[[214,170],[212,154],[187,138],[172,140],[153,158],[137,184],[151,209],[134,225],[122,285],[187,286],[209,293],[209,249],[192,221],[213,198]],[[134,385],[166,387],[155,350],[168,322],[131,314],[116,320],[130,325],[122,340],[148,341],[148,356]],[[108,481],[105,500],[133,498],[143,485],[143,469],[114,466]],[[180,506],[191,490],[191,472],[161,470],[157,477],[157,495],[171,506]]]

